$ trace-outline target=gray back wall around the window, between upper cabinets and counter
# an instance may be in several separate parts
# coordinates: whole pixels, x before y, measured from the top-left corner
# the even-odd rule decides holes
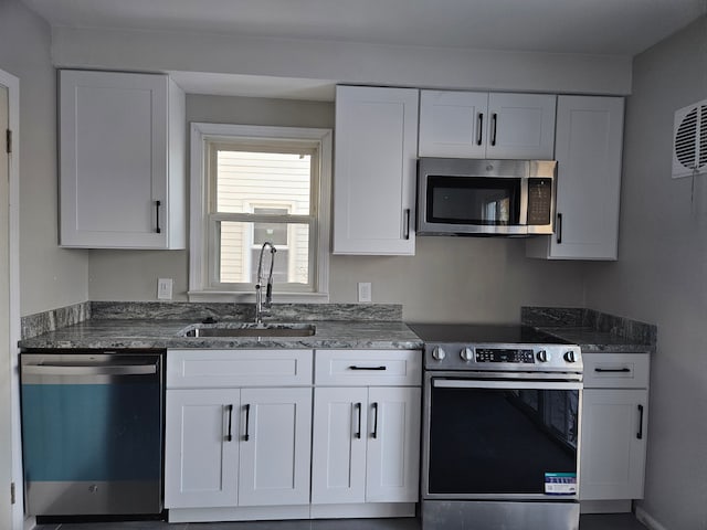
[[[188,121],[333,127],[330,103],[187,97]],[[157,278],[187,299],[186,251],[91,251],[89,299],[154,300]],[[333,256],[330,299],[356,301],[370,282],[374,303],[403,304],[408,320],[517,321],[521,305],[583,304],[583,265],[528,259],[523,240],[419,237],[412,257]],[[275,301],[277,296],[275,296]]]

